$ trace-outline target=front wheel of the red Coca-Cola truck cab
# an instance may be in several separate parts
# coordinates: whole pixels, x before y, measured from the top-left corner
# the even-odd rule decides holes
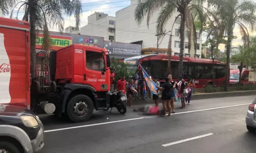
[[[92,99],[83,94],[74,96],[68,103],[67,115],[73,122],[87,121],[93,114]]]

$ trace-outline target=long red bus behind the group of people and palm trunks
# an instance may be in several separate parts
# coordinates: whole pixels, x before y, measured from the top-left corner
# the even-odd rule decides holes
[[[179,56],[172,56],[171,58],[172,75],[175,80],[178,79],[179,59]],[[166,73],[168,55],[140,55],[127,58],[124,62],[129,63],[134,72],[140,69],[139,64],[141,64],[147,73],[151,73],[152,77],[159,79],[160,84],[168,76],[168,73]],[[215,84],[217,86],[225,84],[225,68],[226,63],[215,60]],[[186,81],[189,78],[193,78],[197,88],[212,84],[212,60],[184,57],[182,75]]]

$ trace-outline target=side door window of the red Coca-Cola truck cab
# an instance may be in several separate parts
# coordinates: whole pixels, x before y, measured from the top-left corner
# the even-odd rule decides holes
[[[92,70],[102,71],[105,68],[103,53],[86,51],[86,67]]]

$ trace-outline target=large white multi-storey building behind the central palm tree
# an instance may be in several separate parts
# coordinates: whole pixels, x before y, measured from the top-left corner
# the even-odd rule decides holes
[[[195,2],[194,2],[195,3]],[[157,47],[157,36],[156,36],[156,21],[158,18],[158,13],[155,12],[150,19],[149,26],[147,27],[146,15],[140,25],[135,21],[134,12],[137,7],[138,2],[131,0],[131,5],[116,12],[116,41],[118,42],[141,42],[142,48],[156,48]],[[168,41],[170,32],[172,30],[175,18],[179,15],[176,12],[172,18],[167,22],[165,29],[165,37],[159,39],[158,48],[168,48]],[[174,28],[172,31],[172,55],[179,56],[180,53],[180,28],[181,19],[178,18],[174,23]],[[199,57],[201,58],[202,49],[202,36],[197,33],[197,49],[195,50],[193,46],[190,48],[188,53],[188,31],[185,31],[185,44],[184,44],[184,56],[186,57]]]

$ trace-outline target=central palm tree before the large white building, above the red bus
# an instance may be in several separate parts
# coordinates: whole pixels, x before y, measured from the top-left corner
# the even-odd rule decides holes
[[[135,9],[135,20],[140,25],[144,19],[144,16],[147,16],[147,26],[149,25],[151,16],[154,12],[157,12],[160,9],[157,19],[157,34],[162,34],[164,27],[170,17],[178,10],[181,16],[180,24],[180,60],[179,60],[179,75],[182,75],[183,71],[183,56],[184,56],[184,39],[185,39],[185,25],[191,31],[193,31],[194,38],[194,48],[196,50],[197,37],[196,37],[196,27],[194,20],[203,20],[203,7],[201,0],[195,0],[200,5],[192,4],[193,0],[138,0],[138,6]],[[172,25],[168,25],[172,26]],[[172,35],[170,36],[172,37]],[[168,44],[168,49],[170,47],[170,40]],[[190,44],[189,44],[190,45]],[[169,49],[170,52],[170,49]],[[171,55],[170,53],[168,53]]]

